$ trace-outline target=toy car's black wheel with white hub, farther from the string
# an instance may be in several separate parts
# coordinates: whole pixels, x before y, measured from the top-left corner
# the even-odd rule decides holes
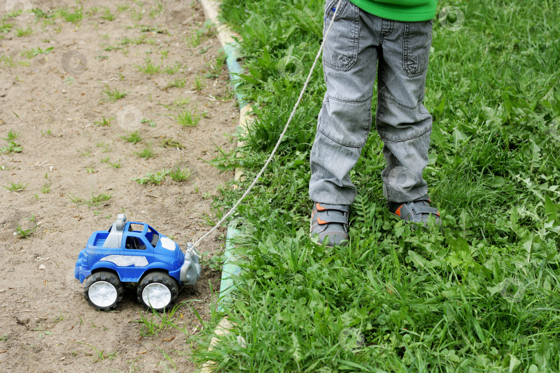
[[[93,307],[109,311],[122,300],[124,287],[119,276],[109,271],[99,271],[84,280],[84,298]]]

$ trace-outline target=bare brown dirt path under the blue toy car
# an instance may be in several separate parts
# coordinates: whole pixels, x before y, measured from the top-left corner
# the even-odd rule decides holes
[[[224,135],[237,119],[218,41],[196,1],[82,1],[82,19],[75,1],[22,3],[43,14],[0,8],[0,137],[18,134],[0,140],[0,185],[14,184],[0,188],[0,371],[194,370],[185,342],[200,326],[193,309],[208,317],[218,271],[203,265],[178,296],[190,301],[171,317],[179,329],[160,330],[132,287],[114,312],[95,311],[73,271],[91,233],[121,212],[183,248],[208,228],[212,195],[232,174],[204,161],[214,144],[232,146]],[[122,138],[132,131],[140,142]],[[176,166],[189,180],[132,181]],[[33,217],[28,238],[15,234]],[[205,258],[224,236],[201,245]]]

